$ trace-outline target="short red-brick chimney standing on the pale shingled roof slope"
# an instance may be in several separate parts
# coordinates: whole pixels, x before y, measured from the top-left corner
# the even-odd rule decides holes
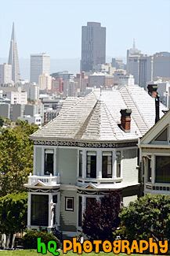
[[[121,129],[124,132],[130,132],[131,130],[131,109],[121,109]]]

